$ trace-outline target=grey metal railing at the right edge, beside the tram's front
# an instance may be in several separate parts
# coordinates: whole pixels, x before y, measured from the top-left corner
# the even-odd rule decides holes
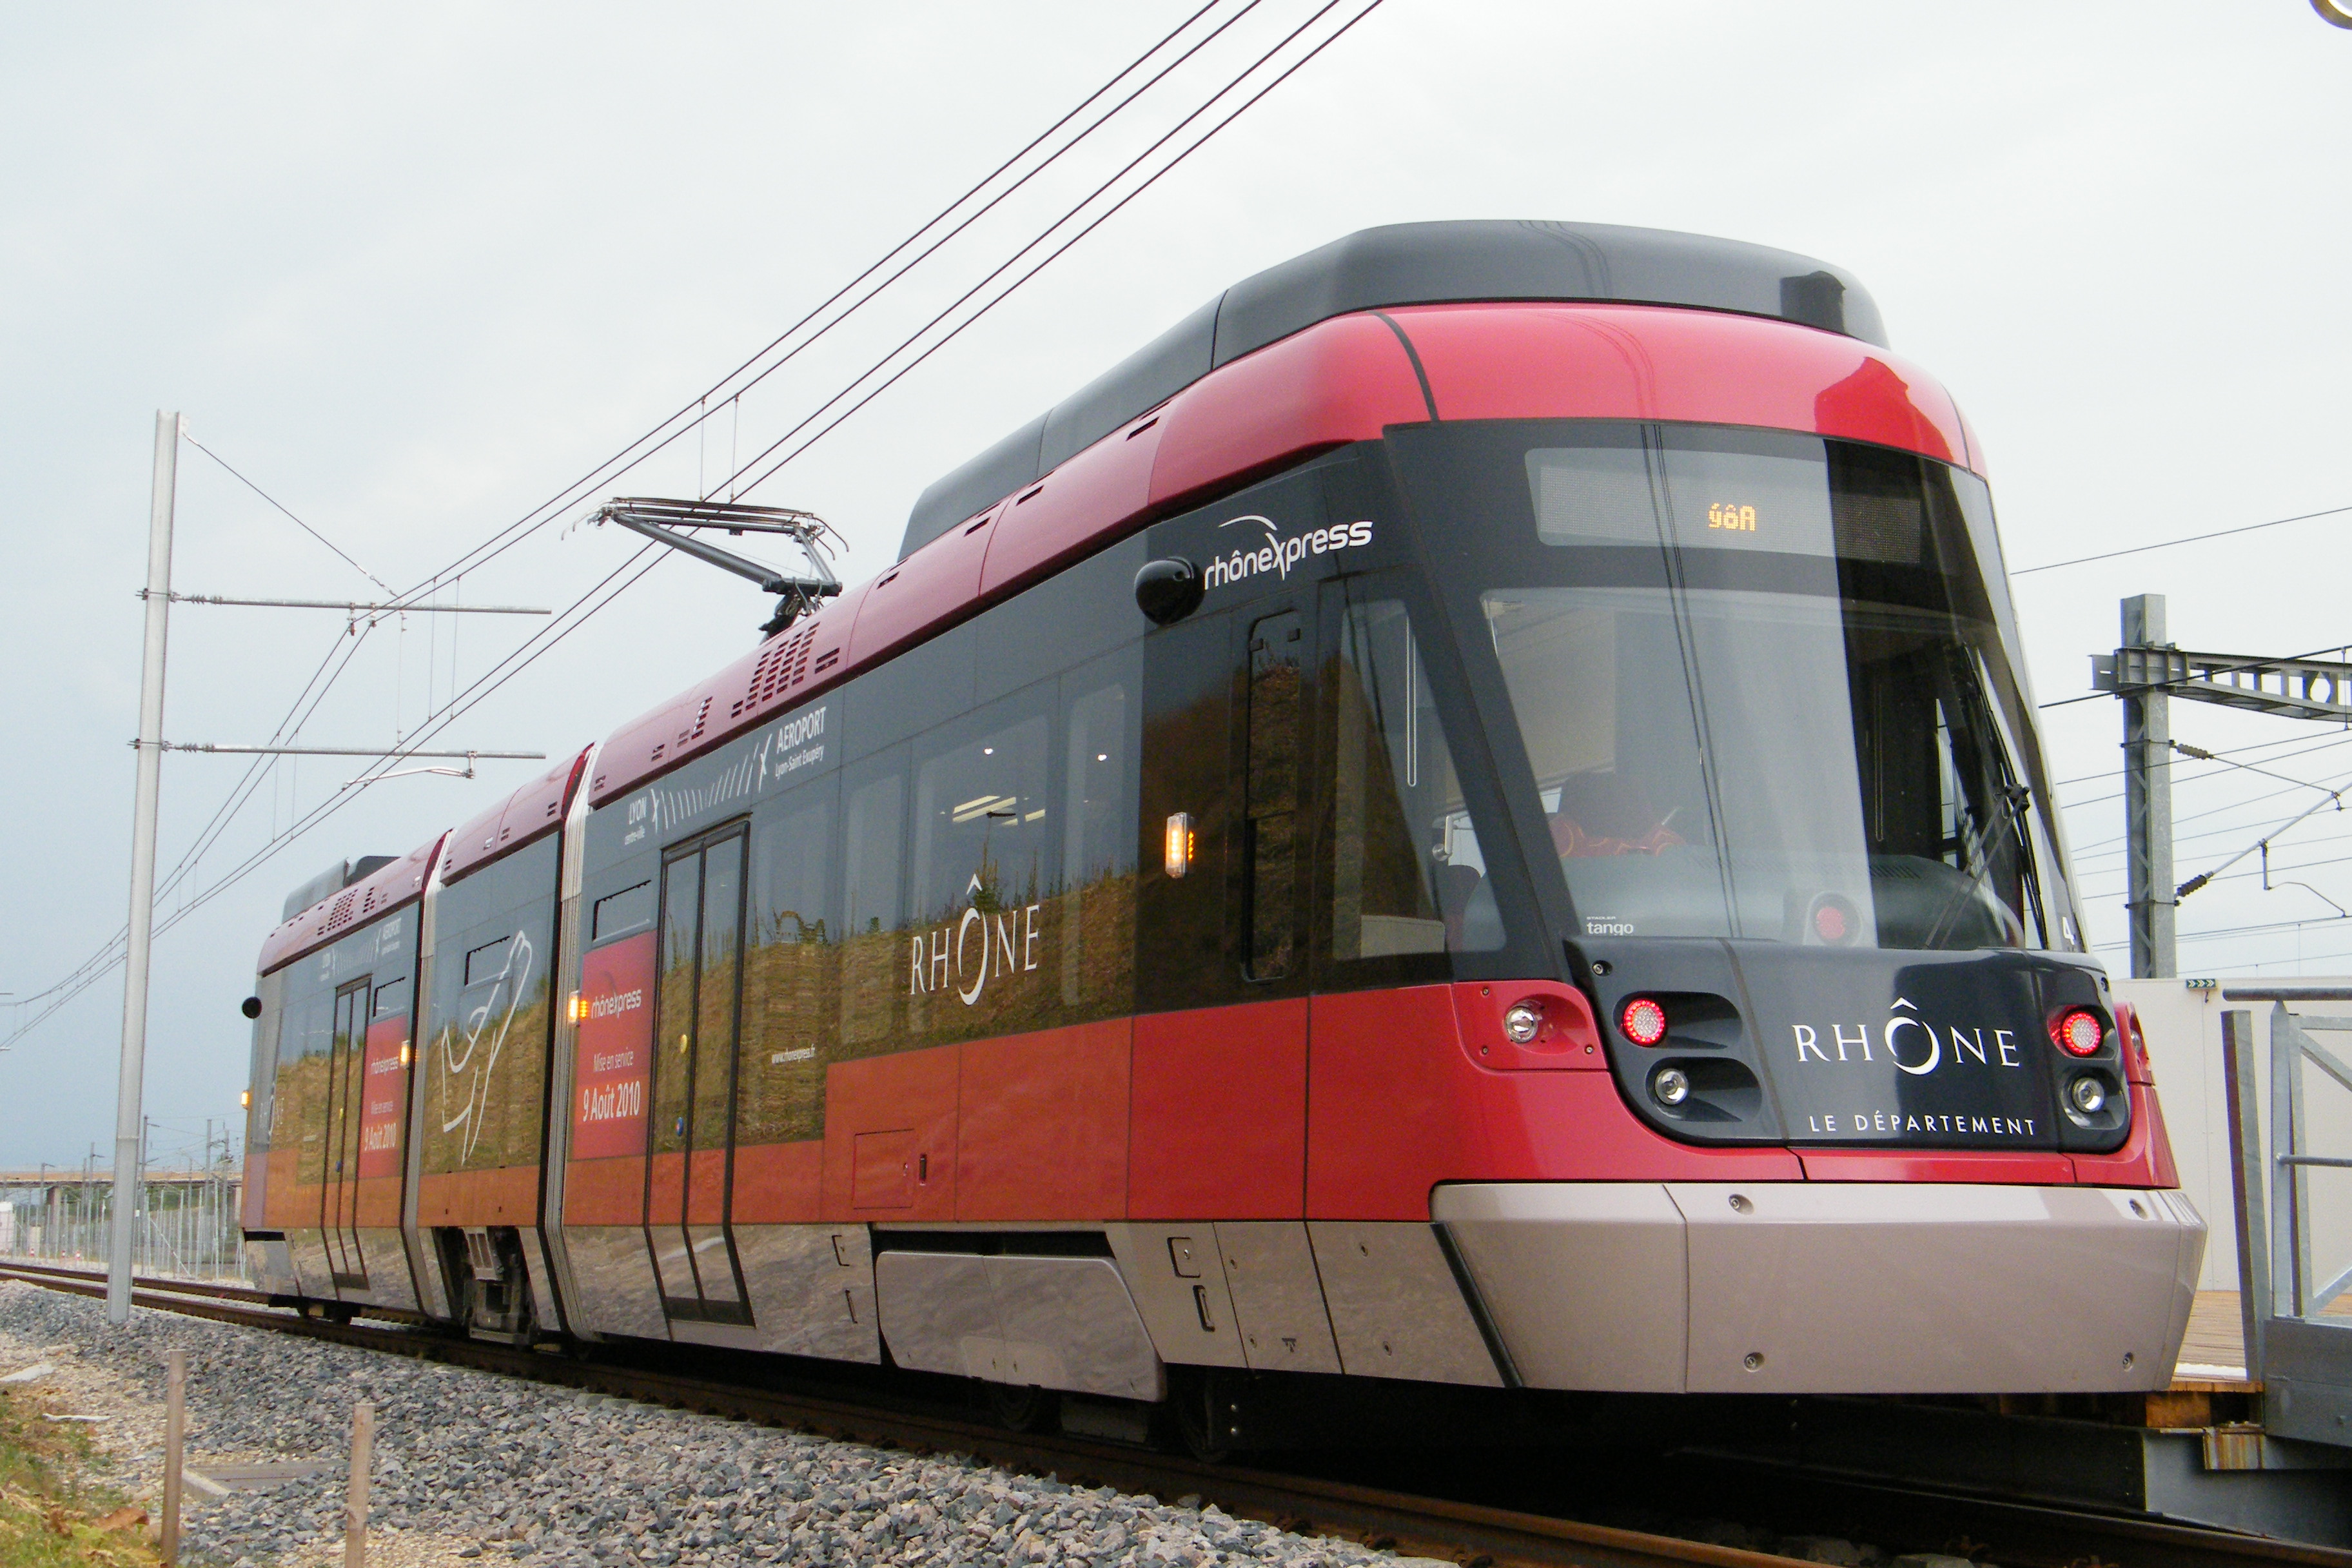
[[[2230,1107],[2230,1197],[2237,1208],[2239,1314],[2246,1375],[2263,1385],[2263,1427],[2352,1446],[2352,1321],[2319,1321],[2352,1291],[2352,1267],[2321,1279],[2312,1258],[2312,1173],[2352,1171],[2352,1150],[2314,1145],[2305,1070],[2352,1093],[2352,1065],[2312,1034],[2352,1034],[2352,1016],[2296,1016],[2291,1001],[2352,1001],[2340,985],[2232,987],[2225,1001],[2270,1001],[2270,1150],[2256,1079],[2253,1013],[2220,1020]]]

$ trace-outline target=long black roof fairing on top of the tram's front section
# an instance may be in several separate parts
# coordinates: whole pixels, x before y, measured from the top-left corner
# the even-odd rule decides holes
[[[1886,348],[1879,308],[1844,268],[1740,240],[1616,223],[1390,223],[1247,277],[962,468],[906,520],[906,559],[964,517],[1275,339],[1350,310],[1472,299],[1623,301],[1771,315]]]

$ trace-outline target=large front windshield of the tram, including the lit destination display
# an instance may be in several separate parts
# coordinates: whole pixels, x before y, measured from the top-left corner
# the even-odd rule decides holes
[[[1482,512],[1454,597],[1524,743],[1505,783],[1588,938],[2079,945],[1973,475],[1595,423],[1439,468]]]

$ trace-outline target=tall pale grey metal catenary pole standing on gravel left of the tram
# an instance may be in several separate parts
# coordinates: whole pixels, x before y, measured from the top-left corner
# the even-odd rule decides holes
[[[132,1321],[132,1222],[139,1213],[139,1095],[146,1079],[146,973],[155,917],[155,797],[162,790],[162,646],[172,614],[172,496],[179,414],[155,414],[148,508],[146,658],[139,668],[139,799],[132,806],[132,919],[122,964],[122,1077],[115,1084],[115,1213],[106,1248],[106,1321]]]

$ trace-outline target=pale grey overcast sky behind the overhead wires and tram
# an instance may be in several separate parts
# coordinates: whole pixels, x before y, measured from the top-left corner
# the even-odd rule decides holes
[[[0,1004],[122,926],[155,409],[407,588],[694,400],[1197,2],[0,9]],[[691,494],[767,447],[1310,9],[1263,0],[1098,150],[602,494]],[[750,498],[833,520],[858,581],[931,477],[1228,282],[1374,223],[1524,216],[1853,268],[1896,350],[1976,423],[2013,567],[2352,505],[2347,75],[2352,31],[2305,0],[1388,0]],[[560,524],[463,597],[562,607],[630,555]],[[2020,576],[2039,701],[2089,689],[2126,592],[2171,595],[2192,649],[2352,637],[2347,529],[2352,512]],[[376,592],[195,449],[174,571],[183,592]],[[442,743],[576,750],[741,654],[762,614],[748,585],[663,564]],[[343,646],[303,738],[388,743],[529,630],[452,621],[348,649],[336,616],[183,607],[167,736],[263,741]],[[2063,795],[2093,938],[2112,943],[2119,715],[2098,698],[2046,717],[2056,776],[2082,780]],[[2176,703],[2176,733],[2352,780],[2324,726]],[[235,1009],[287,889],[407,851],[529,769],[374,785],[158,938],[158,1157],[235,1117]],[[165,870],[242,771],[165,764]],[[355,771],[273,773],[160,917]],[[2180,875],[2317,799],[2183,766]],[[2314,816],[2274,860],[2312,863],[2281,877],[2317,891],[2218,882],[2183,933],[2321,924],[2190,940],[2187,971],[2352,969],[2352,922],[2326,903],[2352,905],[2352,816]],[[0,1020],[45,1004],[19,1006]],[[120,1006],[115,969],[0,1060],[0,1166],[103,1157]]]

